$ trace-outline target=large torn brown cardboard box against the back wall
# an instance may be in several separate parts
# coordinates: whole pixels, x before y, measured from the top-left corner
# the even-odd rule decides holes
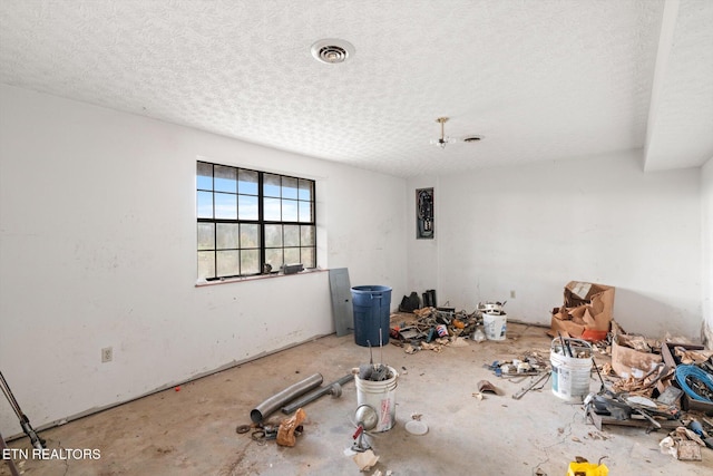
[[[559,331],[574,338],[604,339],[614,317],[614,290],[604,284],[568,282],[564,305],[553,310],[548,333],[555,337]]]

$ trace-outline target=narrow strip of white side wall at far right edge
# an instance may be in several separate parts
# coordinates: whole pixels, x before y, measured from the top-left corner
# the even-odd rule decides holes
[[[713,349],[713,158],[702,167],[701,206],[703,221],[703,334]]]

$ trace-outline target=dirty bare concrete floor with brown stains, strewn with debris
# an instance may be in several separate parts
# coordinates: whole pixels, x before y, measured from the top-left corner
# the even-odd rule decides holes
[[[564,475],[576,456],[604,463],[612,475],[710,475],[713,450],[703,462],[678,462],[658,450],[666,430],[605,427],[585,421],[580,405],[553,395],[549,381],[521,399],[511,396],[529,383],[498,379],[484,365],[539,350],[548,358],[550,339],[537,327],[508,323],[506,341],[468,341],[442,352],[404,353],[388,344],[383,362],[399,370],[395,426],[370,437],[377,469],[393,475]],[[379,349],[374,350],[379,361]],[[307,418],[295,447],[255,441],[237,434],[255,406],[312,373],[324,383],[369,362],[369,350],[353,336],[329,336],[205,377],[180,387],[41,433],[49,448],[96,448],[99,459],[20,459],[26,475],[358,475],[352,456],[356,408],[353,382],[339,399],[329,396],[304,407]],[[404,370],[406,369],[406,370]],[[477,382],[490,380],[499,396],[479,400]],[[592,380],[592,389],[599,383]],[[428,433],[414,436],[404,425],[421,414]],[[273,414],[270,421],[285,416]],[[27,438],[10,443],[27,448]],[[2,462],[0,462],[2,463]],[[0,474],[9,475],[6,464]]]

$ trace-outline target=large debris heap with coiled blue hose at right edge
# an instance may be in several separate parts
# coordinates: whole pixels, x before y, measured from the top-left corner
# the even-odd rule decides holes
[[[701,448],[713,449],[713,351],[628,334],[612,321],[612,331],[593,348],[612,356],[600,366],[602,388],[589,394],[585,416],[604,425],[664,429],[662,453],[701,460]],[[599,367],[596,367],[599,371]]]

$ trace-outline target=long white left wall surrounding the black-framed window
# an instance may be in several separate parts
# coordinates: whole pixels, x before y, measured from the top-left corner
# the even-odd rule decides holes
[[[403,179],[0,86],[0,369],[36,427],[333,332],[326,272],[195,286],[198,156],[316,178],[319,264],[403,294]]]

